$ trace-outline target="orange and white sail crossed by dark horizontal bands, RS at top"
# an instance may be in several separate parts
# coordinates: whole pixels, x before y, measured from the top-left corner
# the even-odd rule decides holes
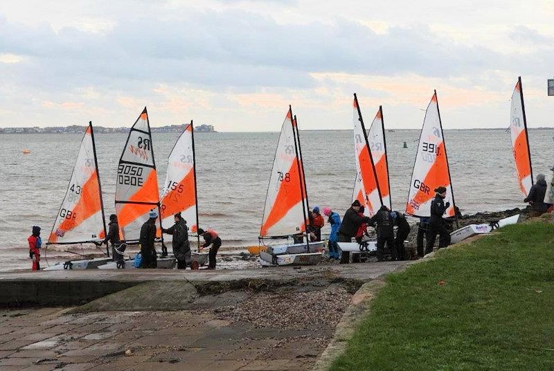
[[[139,241],[148,212],[160,215],[160,199],[152,134],[144,108],[136,120],[119,159],[116,181],[116,214],[123,240]]]

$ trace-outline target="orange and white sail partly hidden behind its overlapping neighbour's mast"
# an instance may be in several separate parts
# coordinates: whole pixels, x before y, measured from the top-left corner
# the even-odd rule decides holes
[[[375,165],[375,174],[377,174],[377,183],[379,183],[379,192],[383,205],[392,210],[391,206],[391,184],[388,181],[388,160],[386,157],[386,138],[383,120],[383,109],[379,110],[373,119],[373,123],[368,132],[368,143],[371,151],[371,158]]]

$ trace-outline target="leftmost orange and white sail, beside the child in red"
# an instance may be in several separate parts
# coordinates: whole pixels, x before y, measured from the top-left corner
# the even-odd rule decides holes
[[[100,242],[106,235],[102,190],[92,123],[81,147],[48,244]]]

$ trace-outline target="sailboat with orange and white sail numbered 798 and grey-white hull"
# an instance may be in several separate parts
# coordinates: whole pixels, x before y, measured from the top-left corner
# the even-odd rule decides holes
[[[307,234],[308,210],[298,126],[289,106],[269,178],[259,239],[303,235],[303,242],[267,246],[260,251],[262,265],[317,264],[321,260],[323,243],[310,242]]]

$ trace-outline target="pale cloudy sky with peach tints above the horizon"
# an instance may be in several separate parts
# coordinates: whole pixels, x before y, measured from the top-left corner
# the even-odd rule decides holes
[[[554,2],[19,0],[0,2],[0,127],[508,127],[521,75],[528,127],[554,126]]]

